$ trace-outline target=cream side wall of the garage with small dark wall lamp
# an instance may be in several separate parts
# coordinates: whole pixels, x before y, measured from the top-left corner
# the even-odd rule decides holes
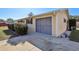
[[[66,22],[64,22],[64,19]],[[68,14],[66,10],[56,13],[56,36],[61,35],[67,30]]]

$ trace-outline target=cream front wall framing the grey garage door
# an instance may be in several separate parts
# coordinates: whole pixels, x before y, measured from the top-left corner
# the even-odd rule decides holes
[[[55,31],[54,31],[54,27],[55,27],[55,25],[53,24],[54,22],[53,22],[53,20],[54,20],[54,18],[53,18],[53,14],[45,14],[45,15],[40,15],[40,16],[37,16],[37,17],[33,17],[33,31],[35,32],[36,31],[36,19],[38,19],[38,18],[45,18],[45,17],[52,17],[52,35],[54,35],[55,34]]]

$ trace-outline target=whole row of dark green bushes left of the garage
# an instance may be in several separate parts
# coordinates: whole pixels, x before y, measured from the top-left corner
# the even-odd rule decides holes
[[[17,35],[26,35],[28,32],[27,24],[9,24],[8,28],[14,31]]]

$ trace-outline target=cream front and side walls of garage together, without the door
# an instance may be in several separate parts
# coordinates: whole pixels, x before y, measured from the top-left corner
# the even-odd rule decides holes
[[[52,17],[52,36],[59,36],[67,30],[68,11],[59,10],[50,14],[33,17],[33,32],[36,32],[36,19],[44,17]],[[66,22],[64,22],[64,19]]]

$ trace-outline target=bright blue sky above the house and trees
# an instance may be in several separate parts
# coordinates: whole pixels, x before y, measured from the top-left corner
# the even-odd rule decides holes
[[[58,8],[0,8],[0,19],[6,20],[13,18],[14,20],[27,17],[30,12],[34,15],[57,10]],[[79,15],[79,8],[69,8],[70,15]]]

